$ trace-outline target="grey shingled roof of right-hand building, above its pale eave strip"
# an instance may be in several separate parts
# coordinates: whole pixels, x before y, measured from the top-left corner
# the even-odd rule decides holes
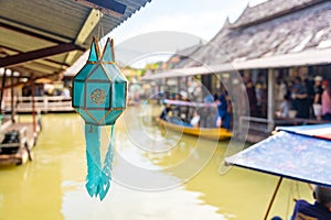
[[[233,24],[226,21],[211,42],[191,54],[192,59],[185,66],[237,63],[308,51],[318,54],[327,48],[331,48],[331,1],[269,0],[247,8]]]

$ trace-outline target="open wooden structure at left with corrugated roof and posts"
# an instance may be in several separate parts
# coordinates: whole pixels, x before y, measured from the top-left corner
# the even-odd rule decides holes
[[[41,79],[51,79],[52,81],[61,77],[65,69],[72,66],[85,51],[89,50],[94,36],[104,37],[150,1],[1,1],[0,114],[4,110],[9,111],[11,117],[8,119],[3,117],[6,120],[2,122],[11,124],[1,124],[0,140],[7,130],[22,130],[24,132],[20,133],[28,135],[29,140],[33,140],[28,147],[31,148],[39,132],[35,112],[39,110],[38,108],[41,108],[40,111],[49,110],[49,107],[44,108],[43,105],[49,106],[46,99],[40,100],[42,103],[38,103],[38,100],[34,99],[35,82]],[[32,112],[32,123],[29,124],[18,123],[14,117],[14,100],[18,99],[17,94],[19,92],[14,88],[23,85],[29,86],[29,90],[31,90],[29,98],[22,100],[23,105],[31,100],[29,108]],[[6,97],[6,95],[8,96]],[[9,109],[2,105],[7,100],[10,102]],[[53,102],[55,105],[57,101]],[[39,105],[41,106],[38,107]],[[61,106],[61,108],[64,107]],[[3,155],[3,151],[0,154],[0,164],[7,164],[7,161],[14,164],[21,163],[21,161],[17,162],[14,155]],[[22,157],[21,154],[19,157]]]

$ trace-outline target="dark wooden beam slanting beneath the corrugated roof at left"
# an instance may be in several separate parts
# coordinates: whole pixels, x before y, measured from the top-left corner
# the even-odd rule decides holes
[[[75,44],[60,44],[56,46],[50,46],[46,48],[41,48],[32,52],[21,53],[13,56],[7,56],[0,59],[0,67],[13,66],[26,62],[32,62],[34,59],[45,58],[49,56],[54,56],[62,53],[67,53],[71,51],[85,51],[83,47]]]

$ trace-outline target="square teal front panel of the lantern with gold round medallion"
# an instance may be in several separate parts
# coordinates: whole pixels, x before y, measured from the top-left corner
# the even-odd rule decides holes
[[[86,108],[110,108],[110,84],[86,84]]]

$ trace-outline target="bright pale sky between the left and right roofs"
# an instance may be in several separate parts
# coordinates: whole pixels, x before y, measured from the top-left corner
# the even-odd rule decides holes
[[[167,61],[179,50],[212,40],[226,18],[235,22],[247,6],[264,1],[151,0],[108,34],[115,42],[116,62],[143,68],[146,64]],[[81,68],[87,56],[66,73]]]

